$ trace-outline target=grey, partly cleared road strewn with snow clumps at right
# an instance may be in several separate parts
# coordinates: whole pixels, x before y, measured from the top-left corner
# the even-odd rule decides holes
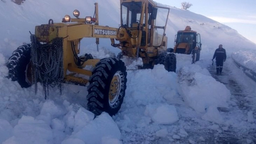
[[[247,87],[250,80],[235,67],[231,58],[224,64],[223,74],[216,75],[215,65],[208,67],[213,78],[225,84],[231,92],[229,108],[218,107],[224,121],[233,118],[238,125],[217,124],[202,120],[202,115],[193,109],[185,108],[181,100],[175,104],[179,113],[179,121],[167,126],[170,132],[176,131],[172,138],[158,138],[153,144],[167,143],[208,143],[208,144],[255,144],[256,127],[253,113],[256,113],[255,90],[253,85]],[[234,71],[232,71],[234,70]],[[239,77],[238,74],[241,74]],[[239,79],[239,78],[240,79]],[[241,80],[246,78],[246,80]],[[246,83],[243,83],[247,81]],[[251,81],[252,82],[252,81]],[[253,82],[252,82],[253,83]],[[218,90],[216,90],[217,92]],[[185,109],[184,109],[185,108]],[[231,121],[233,121],[231,120]],[[212,125],[213,124],[213,125]],[[184,128],[184,129],[183,129]]]

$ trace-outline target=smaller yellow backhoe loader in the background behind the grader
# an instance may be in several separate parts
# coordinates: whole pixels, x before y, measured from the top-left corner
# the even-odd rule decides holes
[[[171,49],[174,53],[192,54],[192,63],[199,61],[202,46],[200,34],[191,30],[190,26],[177,32],[174,43],[174,49]]]

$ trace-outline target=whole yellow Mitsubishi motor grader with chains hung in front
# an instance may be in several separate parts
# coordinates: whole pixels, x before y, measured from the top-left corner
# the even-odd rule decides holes
[[[91,54],[78,56],[81,39],[96,38],[98,45],[99,38],[108,38],[113,47],[121,49],[122,56],[140,57],[140,68],[163,64],[168,71],[176,70],[175,54],[166,51],[169,8],[157,6],[152,0],[120,0],[120,12],[119,28],[99,25],[98,3],[94,17],[80,17],[80,12],[74,10],[74,18],[66,15],[62,23],[50,19],[47,24],[35,26],[31,43],[18,47],[9,58],[8,77],[24,88],[34,84],[35,91],[40,82],[45,96],[49,95],[49,86],[58,86],[60,92],[63,83],[87,86],[88,110],[95,115],[116,114],[125,96],[125,64],[116,57],[99,60]]]

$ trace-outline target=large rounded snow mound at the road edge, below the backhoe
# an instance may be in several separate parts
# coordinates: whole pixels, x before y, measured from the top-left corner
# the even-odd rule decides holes
[[[198,65],[184,66],[178,70],[179,93],[184,101],[201,113],[205,113],[210,106],[227,107],[230,91],[209,72],[202,74],[200,71],[204,70]]]

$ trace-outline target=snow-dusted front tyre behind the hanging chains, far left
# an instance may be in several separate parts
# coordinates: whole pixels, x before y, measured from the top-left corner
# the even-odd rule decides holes
[[[31,44],[25,44],[13,51],[8,60],[9,69],[8,78],[17,81],[22,88],[30,87],[32,84],[31,62],[30,62]]]

